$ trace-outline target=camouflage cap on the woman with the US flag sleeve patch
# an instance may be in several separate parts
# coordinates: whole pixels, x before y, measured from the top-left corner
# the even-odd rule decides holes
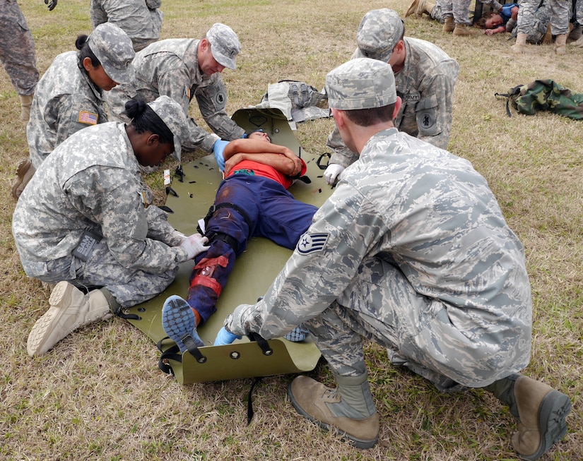
[[[126,32],[112,23],[98,25],[87,38],[89,48],[99,59],[107,76],[115,83],[130,83],[134,79],[131,61],[136,56]]]

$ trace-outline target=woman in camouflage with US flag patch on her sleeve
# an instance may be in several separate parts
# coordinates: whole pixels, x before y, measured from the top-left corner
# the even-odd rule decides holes
[[[126,33],[105,23],[76,40],[79,52],[59,54],[37,85],[26,127],[30,158],[16,170],[12,195],[18,198],[35,169],[73,133],[107,121],[103,92],[133,76],[135,52]]]

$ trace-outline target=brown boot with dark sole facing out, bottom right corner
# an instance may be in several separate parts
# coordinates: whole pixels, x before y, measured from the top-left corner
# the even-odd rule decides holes
[[[550,385],[514,374],[485,390],[508,405],[518,419],[512,446],[524,459],[538,460],[567,433],[565,419],[571,411],[571,400]]]

